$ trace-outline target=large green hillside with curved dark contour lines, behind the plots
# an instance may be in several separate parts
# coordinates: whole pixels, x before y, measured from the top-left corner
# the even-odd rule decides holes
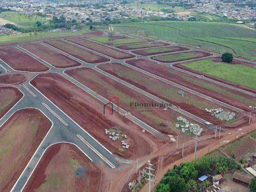
[[[114,29],[256,60],[256,30],[238,24],[168,21],[116,24]]]

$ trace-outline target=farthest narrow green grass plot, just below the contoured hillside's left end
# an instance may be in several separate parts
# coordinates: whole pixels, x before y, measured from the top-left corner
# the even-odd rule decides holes
[[[109,45],[121,45],[121,44],[131,44],[131,43],[141,43],[141,42],[148,42],[148,40],[145,39],[139,39],[139,38],[128,38],[123,36],[115,36],[112,40],[109,40],[108,37],[90,37],[89,39],[106,43]]]

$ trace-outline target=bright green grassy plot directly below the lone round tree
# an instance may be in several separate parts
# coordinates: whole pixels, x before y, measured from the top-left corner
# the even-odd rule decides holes
[[[185,70],[206,75],[210,78],[256,92],[255,65],[234,60],[222,62],[220,58],[205,59],[177,65]]]

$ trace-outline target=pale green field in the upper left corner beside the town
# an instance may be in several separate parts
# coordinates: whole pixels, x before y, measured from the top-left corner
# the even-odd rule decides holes
[[[1,12],[0,18],[15,23],[18,26],[28,27],[34,26],[37,21],[44,23],[49,21],[50,18],[30,16],[28,14],[18,12]]]

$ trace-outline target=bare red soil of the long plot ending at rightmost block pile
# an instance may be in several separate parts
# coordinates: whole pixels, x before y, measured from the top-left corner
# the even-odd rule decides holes
[[[110,63],[110,64],[104,64],[104,65],[100,65],[98,66],[98,68],[104,70],[105,72],[109,73],[109,74],[112,74],[113,76],[116,76],[117,78],[120,78],[150,94],[153,94],[154,96],[157,96],[158,98],[161,98],[175,106],[179,106],[180,108],[182,108],[183,110],[186,110],[187,112],[190,112],[200,118],[203,118],[205,120],[208,120],[209,122],[214,122],[214,124],[221,124],[220,121],[216,120],[216,118],[212,117],[210,113],[206,112],[204,110],[204,108],[198,108],[196,107],[196,105],[193,105],[193,104],[190,104],[191,102],[177,102],[175,101],[174,99],[172,99],[173,96],[171,96],[170,94],[166,93],[166,92],[161,92],[162,90],[160,90],[158,92],[158,90],[156,88],[154,88],[154,86],[157,86],[157,87],[162,87],[162,88],[166,88],[166,90],[170,89],[170,90],[173,90],[173,89],[177,89],[177,92],[178,92],[178,88],[170,85],[170,84],[167,84],[165,82],[162,82],[156,78],[153,78],[153,77],[150,77],[146,74],[142,74],[136,70],[133,70],[131,68],[128,68],[120,63]],[[133,80],[133,78],[129,78],[128,76],[122,76],[122,73],[121,72],[132,72],[134,74],[134,78],[136,77],[140,77],[140,80],[138,80],[136,82],[136,80]],[[119,74],[119,75],[118,75]],[[143,82],[150,82],[151,84],[153,84],[154,86],[147,86],[148,84],[145,84]],[[192,94],[191,94],[192,95]],[[198,96],[194,96],[192,95],[193,98],[195,100],[200,100],[200,102],[204,102],[204,103],[208,103],[209,106],[215,106],[215,108],[220,108],[221,106],[215,104],[215,103],[210,103],[208,102],[208,100],[205,100],[203,98],[200,98]],[[177,96],[178,97],[178,94]],[[186,98],[184,98],[184,100],[186,100]],[[184,101],[183,100],[183,101]]]

